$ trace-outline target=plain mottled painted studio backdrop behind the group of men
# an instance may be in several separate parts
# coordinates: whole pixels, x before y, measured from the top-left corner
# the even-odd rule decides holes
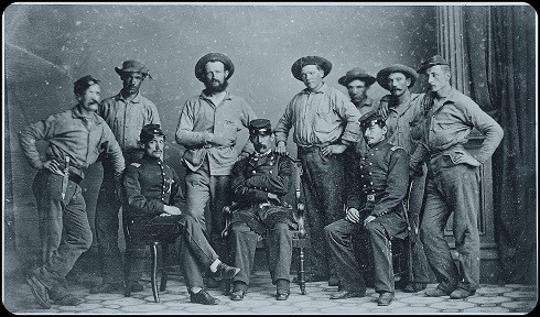
[[[174,132],[185,100],[204,88],[194,68],[206,53],[231,58],[235,74],[228,90],[274,125],[289,100],[305,88],[291,74],[294,61],[305,55],[330,59],[333,68],[325,83],[347,94],[337,79],[353,67],[375,76],[396,63],[418,68],[438,54],[436,17],[434,6],[353,3],[9,6],[3,15],[4,241],[13,254],[4,258],[7,269],[31,263],[39,254],[31,190],[36,171],[26,163],[17,133],[72,108],[77,78],[90,74],[100,79],[105,99],[122,87],[115,66],[131,58],[147,64],[153,79],[144,80],[141,94],[158,107],[168,135],[164,160],[182,176],[184,150],[174,142]],[[424,80],[412,91],[423,91]],[[378,84],[368,91],[376,99],[386,94]],[[239,145],[247,133],[242,136]],[[295,155],[291,140],[289,146]],[[95,164],[82,183],[90,226],[101,177],[101,166]]]

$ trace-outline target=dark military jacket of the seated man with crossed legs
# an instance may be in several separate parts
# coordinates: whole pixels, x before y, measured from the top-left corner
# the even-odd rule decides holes
[[[163,212],[163,205],[185,210],[185,199],[176,172],[159,158],[147,155],[126,167],[123,176],[125,219],[136,222]]]

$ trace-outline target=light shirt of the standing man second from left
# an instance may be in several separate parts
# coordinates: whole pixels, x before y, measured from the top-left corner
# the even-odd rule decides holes
[[[123,153],[141,150],[139,135],[142,127],[160,124],[158,108],[141,94],[129,102],[121,94],[109,97],[99,105],[98,114],[109,124]]]

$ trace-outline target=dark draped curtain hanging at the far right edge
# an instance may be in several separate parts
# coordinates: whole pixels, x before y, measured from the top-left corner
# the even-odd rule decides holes
[[[493,156],[495,233],[505,283],[536,283],[536,34],[529,6],[466,7],[471,97],[505,130]],[[487,83],[487,85],[486,85]]]

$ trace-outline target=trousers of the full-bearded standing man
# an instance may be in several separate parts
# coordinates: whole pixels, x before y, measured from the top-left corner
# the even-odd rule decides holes
[[[227,251],[222,239],[225,229],[223,208],[231,204],[230,175],[210,175],[208,158],[205,157],[197,171],[186,168],[185,183],[186,212],[201,225],[210,245],[225,259]]]

